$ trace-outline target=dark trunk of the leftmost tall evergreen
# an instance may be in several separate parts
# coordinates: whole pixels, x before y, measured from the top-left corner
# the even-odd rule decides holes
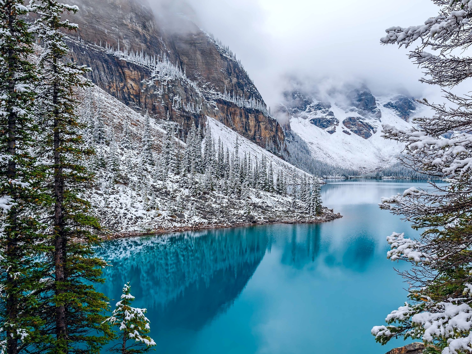
[[[11,4],[7,8],[10,16],[8,17],[8,30],[10,31],[11,37],[15,35],[15,27],[13,26],[13,21],[15,20],[15,11],[12,8]],[[15,97],[15,53],[12,48],[8,50],[8,94],[10,95],[10,100]],[[11,101],[10,101],[11,102]],[[16,155],[16,118],[17,115],[13,111],[11,104],[8,107],[8,154],[12,157]],[[11,190],[11,196],[15,196],[15,185],[11,180],[17,177],[17,166],[14,159],[8,160],[8,179],[10,180],[9,186]],[[7,232],[7,257],[8,259],[15,259],[17,252],[17,212],[16,208],[12,207],[8,212],[8,223],[9,230]],[[17,261],[17,260],[16,260]],[[7,272],[7,321],[14,323],[17,320],[18,316],[18,298],[17,298],[17,287],[14,273],[17,272],[17,267],[12,267]],[[17,342],[17,333],[15,326],[9,328],[7,326],[7,354],[17,354],[18,352],[18,342]]]

